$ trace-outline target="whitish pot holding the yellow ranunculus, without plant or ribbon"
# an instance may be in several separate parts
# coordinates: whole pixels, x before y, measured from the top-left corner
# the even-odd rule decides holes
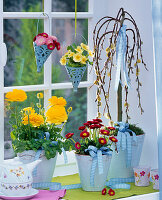
[[[27,164],[34,161],[36,152],[33,150],[29,150],[24,151],[22,153],[18,153],[17,155],[21,162]],[[39,159],[42,160],[42,162],[39,163],[39,165],[36,168],[36,174],[33,175],[33,182],[51,182],[56,166],[57,154],[54,158],[47,160],[44,155],[44,151],[42,151],[39,156]]]

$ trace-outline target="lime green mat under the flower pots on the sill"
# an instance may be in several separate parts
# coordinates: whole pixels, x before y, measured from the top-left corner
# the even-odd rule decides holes
[[[58,176],[53,178],[53,182],[59,182],[62,185],[70,185],[80,183],[79,175],[69,175],[69,176]],[[82,189],[67,190],[64,199],[67,200],[113,200],[120,199],[124,197],[130,197],[134,195],[148,194],[153,192],[158,192],[158,190],[153,190],[152,183],[148,187],[137,187],[134,183],[129,183],[131,185],[130,190],[126,189],[116,189],[115,196],[111,197],[107,195],[101,195],[101,192],[85,192]]]

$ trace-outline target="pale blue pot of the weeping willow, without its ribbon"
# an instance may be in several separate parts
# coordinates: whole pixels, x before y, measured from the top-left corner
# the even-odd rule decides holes
[[[127,151],[120,150],[116,153],[113,151],[112,161],[108,173],[108,179],[110,178],[130,178],[134,176],[133,167],[139,165],[142,147],[144,142],[144,135],[137,136],[137,142],[132,142],[132,159],[131,166],[127,167],[126,158]],[[115,147],[114,147],[115,149]]]

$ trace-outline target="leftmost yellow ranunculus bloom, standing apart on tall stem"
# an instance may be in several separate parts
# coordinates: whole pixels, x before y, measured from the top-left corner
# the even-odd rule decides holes
[[[27,95],[24,90],[13,89],[12,92],[7,92],[6,101],[25,101],[27,99]]]

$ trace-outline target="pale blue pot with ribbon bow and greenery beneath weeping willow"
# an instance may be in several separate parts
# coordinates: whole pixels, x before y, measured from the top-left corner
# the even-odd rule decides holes
[[[113,149],[116,148],[117,153],[113,152],[108,179],[133,177],[133,167],[139,165],[145,133],[135,124],[117,123],[114,127],[113,136],[118,142]]]

